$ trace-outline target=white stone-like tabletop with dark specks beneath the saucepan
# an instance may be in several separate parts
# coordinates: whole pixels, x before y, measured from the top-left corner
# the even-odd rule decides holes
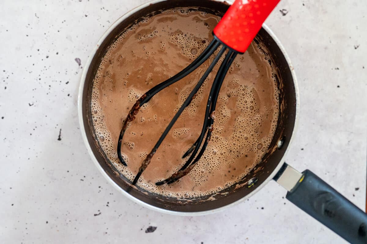
[[[0,243],[345,243],[275,182],[219,214],[178,217],[127,200],[100,175],[79,131],[74,59],[83,66],[108,26],[144,2],[0,1]],[[364,0],[282,0],[266,21],[299,81],[287,162],[363,209],[366,13]]]

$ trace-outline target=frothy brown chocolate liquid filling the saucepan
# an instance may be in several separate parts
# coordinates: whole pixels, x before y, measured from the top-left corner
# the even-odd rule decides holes
[[[128,164],[124,167],[116,150],[128,111],[142,94],[197,57],[212,40],[219,20],[199,11],[165,11],[124,32],[103,58],[92,90],[93,125],[103,152],[126,178],[137,174],[214,55],[141,108],[124,135],[122,152]],[[166,196],[204,196],[233,185],[261,161],[276,128],[279,91],[271,67],[253,42],[245,54],[237,55],[225,77],[214,131],[196,167],[172,185],[155,185],[188,159],[181,157],[200,134],[210,87],[223,58],[164,139],[138,186]]]

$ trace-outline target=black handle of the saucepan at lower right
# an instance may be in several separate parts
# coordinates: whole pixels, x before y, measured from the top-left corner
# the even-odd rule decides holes
[[[283,172],[284,167],[290,166],[283,165]],[[279,182],[277,176],[275,180]],[[302,172],[286,198],[349,243],[367,243],[366,213],[311,171]]]

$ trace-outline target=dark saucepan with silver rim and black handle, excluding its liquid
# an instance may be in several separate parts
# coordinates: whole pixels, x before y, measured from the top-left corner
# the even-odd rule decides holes
[[[100,149],[97,135],[91,126],[91,91],[99,63],[109,45],[134,23],[161,11],[180,7],[194,8],[222,16],[228,9],[229,3],[220,0],[156,0],[143,4],[120,17],[110,26],[98,41],[85,65],[78,98],[80,128],[92,161],[101,173],[131,200],[153,210],[176,215],[201,215],[224,210],[248,199],[273,179],[288,191],[288,200],[335,233],[351,243],[367,243],[367,215],[363,211],[309,170],[301,173],[284,163],[283,158],[297,127],[299,94],[290,59],[277,37],[266,25],[262,26],[255,41],[264,47],[265,55],[277,69],[275,79],[280,90],[280,114],[270,150],[261,163],[240,182],[222,190],[214,198],[203,196],[186,201],[177,201],[174,197],[161,196],[132,186],[131,182],[113,167]]]

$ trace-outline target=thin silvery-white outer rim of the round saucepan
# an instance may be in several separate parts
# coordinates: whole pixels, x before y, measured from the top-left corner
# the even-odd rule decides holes
[[[286,149],[286,152],[284,152],[283,157],[281,158],[281,160],[279,161],[279,164],[277,165],[277,167],[273,170],[273,172],[268,176],[268,178],[266,178],[266,180],[264,182],[261,183],[261,185],[259,185],[255,190],[253,190],[252,192],[250,192],[249,194],[247,194],[246,196],[244,196],[243,198],[234,201],[233,203],[230,203],[228,205],[219,207],[219,208],[215,208],[212,210],[206,210],[206,211],[200,211],[200,212],[181,212],[181,211],[172,211],[172,210],[167,210],[167,209],[163,209],[163,208],[159,208],[153,205],[150,205],[148,203],[145,203],[144,201],[141,201],[137,198],[135,198],[134,196],[130,195],[129,193],[127,193],[125,190],[123,190],[119,185],[117,185],[116,182],[114,182],[109,176],[108,174],[105,172],[105,170],[103,170],[102,166],[99,164],[97,158],[95,157],[92,148],[88,142],[87,139],[87,134],[86,134],[86,130],[84,127],[84,119],[83,119],[83,109],[82,109],[82,105],[83,105],[83,91],[84,91],[84,83],[86,81],[86,77],[87,77],[87,73],[88,70],[90,68],[92,59],[94,58],[94,55],[96,54],[99,46],[102,44],[103,40],[105,40],[105,38],[112,32],[113,29],[115,29],[121,22],[123,22],[126,18],[128,18],[130,15],[134,14],[135,12],[148,7],[151,4],[155,4],[155,3],[159,3],[162,1],[166,1],[166,0],[153,0],[153,1],[149,1],[148,3],[142,4],[130,11],[128,11],[126,14],[124,14],[123,16],[121,16],[119,19],[117,19],[107,30],[105,33],[103,33],[101,39],[99,39],[97,45],[95,46],[95,48],[93,49],[93,51],[91,52],[91,55],[89,56],[89,58],[87,59],[86,64],[84,65],[84,70],[83,73],[81,75],[81,80],[80,80],[80,85],[79,85],[79,94],[78,94],[78,117],[79,117],[79,125],[80,125],[80,130],[81,130],[81,135],[84,141],[84,144],[86,145],[87,151],[90,154],[90,157],[92,159],[92,161],[94,162],[94,164],[96,165],[96,167],[98,168],[98,170],[101,172],[101,174],[106,178],[106,180],[111,183],[113,186],[115,186],[115,188],[117,190],[119,190],[124,196],[126,196],[128,199],[142,205],[143,207],[158,211],[158,212],[162,212],[165,214],[173,214],[173,215],[181,215],[181,216],[197,216],[197,215],[205,215],[205,214],[212,214],[212,213],[216,213],[219,211],[222,211],[226,208],[229,208],[233,205],[237,205],[245,200],[247,200],[249,197],[251,197],[252,195],[254,195],[255,193],[257,193],[262,187],[264,187],[270,180],[273,179],[273,177],[276,175],[276,173],[280,170],[281,166],[283,165],[282,162],[284,162],[284,158],[286,157],[286,154],[290,148],[291,142],[294,138],[294,134],[295,131],[297,131],[298,128],[298,117],[299,117],[299,91],[298,91],[298,83],[297,83],[297,77],[295,75],[294,72],[294,68],[292,66],[292,63],[290,61],[290,58],[286,52],[286,50],[284,49],[283,45],[280,43],[279,39],[275,36],[275,34],[272,32],[272,30],[270,30],[270,28],[263,24],[262,28],[264,28],[266,30],[266,32],[268,32],[268,34],[272,37],[272,39],[275,41],[275,43],[278,45],[279,49],[281,50],[281,52],[283,53],[288,66],[291,70],[291,74],[292,74],[292,79],[293,79],[293,83],[294,83],[294,89],[295,89],[295,96],[296,96],[296,114],[295,114],[295,122],[294,122],[294,129],[293,129],[293,133],[292,136],[290,138],[290,142],[288,144],[288,147]],[[225,0],[212,0],[212,1],[219,1],[219,2],[228,2]]]

